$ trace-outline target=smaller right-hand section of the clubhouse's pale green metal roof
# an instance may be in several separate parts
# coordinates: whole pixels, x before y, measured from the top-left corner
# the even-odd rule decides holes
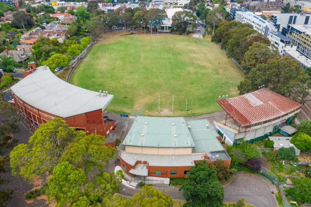
[[[207,119],[186,122],[191,127],[189,131],[195,144],[195,148],[192,150],[193,153],[206,152],[208,150],[211,152],[225,150],[217,139],[219,135]],[[207,124],[209,127],[206,126]]]

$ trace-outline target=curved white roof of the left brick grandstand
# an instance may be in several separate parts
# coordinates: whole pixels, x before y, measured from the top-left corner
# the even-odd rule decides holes
[[[71,117],[104,110],[113,95],[86,90],[55,76],[49,67],[37,67],[30,75],[11,87],[25,103],[58,117]]]

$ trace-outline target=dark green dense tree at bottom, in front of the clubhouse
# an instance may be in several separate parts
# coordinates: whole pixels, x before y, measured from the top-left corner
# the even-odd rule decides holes
[[[184,207],[220,207],[224,199],[224,187],[217,178],[216,171],[198,162],[190,168],[187,181],[180,187],[186,199]]]

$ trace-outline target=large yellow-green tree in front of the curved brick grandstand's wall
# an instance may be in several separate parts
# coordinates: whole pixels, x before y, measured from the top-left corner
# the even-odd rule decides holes
[[[17,145],[10,153],[12,174],[31,182],[35,176],[52,173],[68,143],[81,136],[82,131],[70,128],[61,118],[42,123],[28,144]]]

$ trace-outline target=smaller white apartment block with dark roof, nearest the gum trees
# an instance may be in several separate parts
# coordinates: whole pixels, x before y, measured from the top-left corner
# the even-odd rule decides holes
[[[267,38],[272,44],[276,45],[281,55],[285,53],[285,51],[295,51],[297,48],[297,46],[294,46],[289,38],[285,37],[283,34],[277,31],[269,32]]]

